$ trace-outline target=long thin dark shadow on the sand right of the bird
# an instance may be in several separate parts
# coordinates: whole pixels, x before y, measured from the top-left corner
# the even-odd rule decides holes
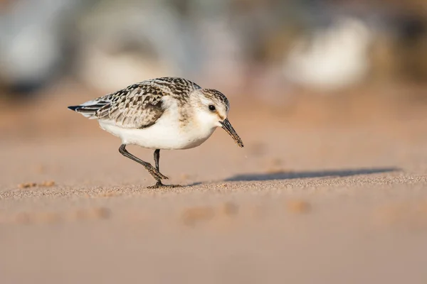
[[[262,180],[292,180],[297,178],[343,178],[352,175],[373,175],[376,173],[391,173],[400,171],[400,168],[359,168],[343,170],[314,170],[314,171],[296,171],[296,172],[278,172],[278,173],[249,173],[243,175],[234,175],[227,178],[226,182],[235,181],[262,181]]]

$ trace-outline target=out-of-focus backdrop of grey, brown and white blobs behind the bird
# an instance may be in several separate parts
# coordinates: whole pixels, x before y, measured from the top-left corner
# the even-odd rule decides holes
[[[66,105],[163,76],[243,112],[371,119],[408,102],[413,114],[426,51],[423,0],[1,0],[0,128],[71,127]]]

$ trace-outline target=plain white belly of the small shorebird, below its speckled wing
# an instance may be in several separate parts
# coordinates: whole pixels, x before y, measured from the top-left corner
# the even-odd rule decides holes
[[[149,149],[189,149],[204,143],[216,127],[202,128],[194,125],[181,127],[170,124],[167,119],[160,118],[156,124],[145,129],[124,129],[109,121],[99,121],[100,126],[107,132],[122,139],[123,144],[132,144]]]

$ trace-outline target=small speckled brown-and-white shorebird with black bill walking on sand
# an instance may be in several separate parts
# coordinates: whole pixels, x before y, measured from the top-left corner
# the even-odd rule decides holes
[[[163,77],[132,84],[78,106],[68,107],[102,129],[122,139],[122,155],[144,166],[157,180],[167,179],[159,171],[160,150],[189,149],[204,143],[216,127],[222,127],[238,146],[243,142],[227,119],[230,104],[216,89],[202,89],[178,77]],[[154,149],[154,168],[126,150],[127,145]]]

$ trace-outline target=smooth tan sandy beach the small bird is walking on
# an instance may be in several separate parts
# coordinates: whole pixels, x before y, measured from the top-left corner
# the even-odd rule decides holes
[[[172,189],[77,114],[2,139],[1,283],[426,283],[426,114],[248,112],[230,114],[243,149],[218,129],[161,152]]]

